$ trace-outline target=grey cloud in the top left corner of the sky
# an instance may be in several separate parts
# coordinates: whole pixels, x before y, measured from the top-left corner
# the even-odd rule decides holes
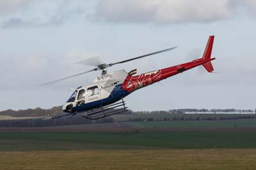
[[[61,26],[83,16],[83,1],[0,1],[0,26],[3,28]]]

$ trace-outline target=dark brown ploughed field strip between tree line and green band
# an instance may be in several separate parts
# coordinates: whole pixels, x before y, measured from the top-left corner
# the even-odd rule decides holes
[[[126,123],[90,123],[56,127],[0,127],[0,132],[256,132],[256,127],[132,127]]]

